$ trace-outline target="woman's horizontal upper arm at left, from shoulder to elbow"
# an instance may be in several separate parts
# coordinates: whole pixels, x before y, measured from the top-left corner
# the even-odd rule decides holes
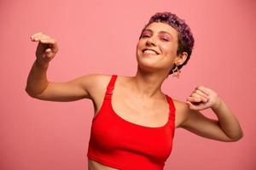
[[[68,82],[49,82],[41,94],[33,97],[51,101],[91,99],[90,94],[101,85],[101,77],[102,75],[86,75]]]

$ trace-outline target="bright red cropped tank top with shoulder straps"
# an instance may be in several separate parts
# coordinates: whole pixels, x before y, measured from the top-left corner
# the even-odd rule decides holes
[[[100,111],[92,120],[87,156],[108,167],[121,170],[160,170],[172,151],[175,107],[169,103],[169,119],[162,127],[145,127],[128,122],[113,111],[113,75]]]

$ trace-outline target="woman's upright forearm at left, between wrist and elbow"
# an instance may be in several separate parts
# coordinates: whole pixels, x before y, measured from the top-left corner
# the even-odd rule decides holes
[[[47,88],[49,82],[47,80],[47,69],[49,63],[45,65],[39,65],[37,61],[32,65],[32,69],[27,77],[26,93],[32,97],[41,94],[45,88]]]

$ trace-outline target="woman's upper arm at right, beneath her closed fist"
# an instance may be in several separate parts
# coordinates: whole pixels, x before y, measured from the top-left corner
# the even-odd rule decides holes
[[[208,118],[200,111],[190,110],[188,105],[182,102],[177,104],[177,114],[182,116],[182,122],[179,127],[183,127],[189,132],[195,133],[207,139],[215,139],[224,142],[233,141],[222,130],[218,120]]]

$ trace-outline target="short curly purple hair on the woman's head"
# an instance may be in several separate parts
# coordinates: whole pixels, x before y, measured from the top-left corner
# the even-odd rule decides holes
[[[192,32],[190,31],[189,26],[185,23],[185,20],[178,18],[176,14],[164,12],[154,14],[148,21],[148,24],[144,26],[143,30],[146,29],[146,27],[153,22],[162,22],[168,24],[177,31],[177,55],[182,54],[183,52],[186,52],[188,54],[185,62],[182,65],[177,66],[178,69],[181,69],[183,65],[186,65],[188,63],[194,46],[194,37]],[[172,71],[170,72],[170,74],[172,74]]]

